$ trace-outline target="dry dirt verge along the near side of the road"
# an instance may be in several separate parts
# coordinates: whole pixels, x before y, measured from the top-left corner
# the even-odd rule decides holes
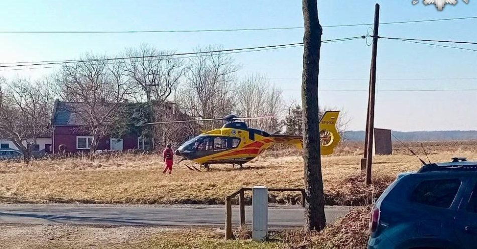
[[[285,248],[279,241],[224,240],[213,229],[94,227],[76,225],[0,225],[0,248]]]

